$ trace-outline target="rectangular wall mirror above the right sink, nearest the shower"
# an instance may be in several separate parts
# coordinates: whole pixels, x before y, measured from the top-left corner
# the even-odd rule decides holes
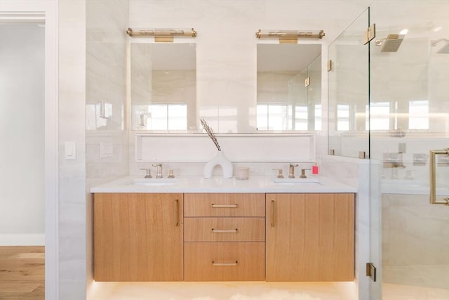
[[[257,44],[257,130],[321,130],[321,44]]]

